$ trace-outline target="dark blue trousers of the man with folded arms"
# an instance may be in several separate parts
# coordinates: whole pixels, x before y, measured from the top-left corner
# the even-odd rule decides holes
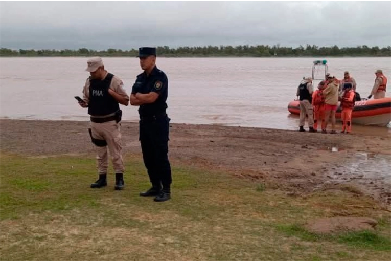
[[[145,167],[153,186],[170,189],[171,166],[168,160],[170,119],[165,116],[141,117],[140,142]]]

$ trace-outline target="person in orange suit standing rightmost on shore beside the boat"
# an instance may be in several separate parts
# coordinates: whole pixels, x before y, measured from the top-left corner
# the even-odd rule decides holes
[[[350,133],[352,130],[352,112],[355,101],[355,93],[352,90],[352,83],[346,83],[343,85],[343,94],[341,99],[341,108],[342,108],[342,131],[344,133]]]

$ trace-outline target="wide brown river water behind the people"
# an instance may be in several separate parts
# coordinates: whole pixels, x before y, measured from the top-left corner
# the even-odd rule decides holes
[[[295,98],[312,61],[327,59],[329,72],[349,71],[366,97],[376,69],[391,78],[391,58],[157,58],[169,78],[168,114],[173,123],[297,129],[298,117],[287,104]],[[88,77],[85,57],[0,58],[0,117],[31,120],[88,120],[75,95]],[[103,58],[128,93],[141,73],[132,57]],[[316,71],[317,75],[324,71]],[[315,82],[315,85],[317,83]],[[387,96],[389,94],[387,93]],[[137,107],[122,107],[124,121],[137,121]],[[387,134],[389,127],[353,127],[355,132]]]

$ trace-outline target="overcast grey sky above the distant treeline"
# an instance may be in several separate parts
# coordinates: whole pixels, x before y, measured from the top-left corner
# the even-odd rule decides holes
[[[0,46],[391,45],[387,0],[1,0]]]

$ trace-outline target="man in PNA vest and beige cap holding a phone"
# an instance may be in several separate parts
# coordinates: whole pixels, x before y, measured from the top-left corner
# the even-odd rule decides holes
[[[116,185],[114,189],[124,188],[124,161],[121,154],[120,121],[122,111],[119,103],[127,106],[129,96],[123,88],[121,79],[108,73],[101,57],[93,57],[87,61],[90,77],[83,88],[83,101],[80,106],[88,107],[90,115],[89,134],[96,145],[99,179],[91,184],[91,188],[107,186],[108,153],[111,155]]]

